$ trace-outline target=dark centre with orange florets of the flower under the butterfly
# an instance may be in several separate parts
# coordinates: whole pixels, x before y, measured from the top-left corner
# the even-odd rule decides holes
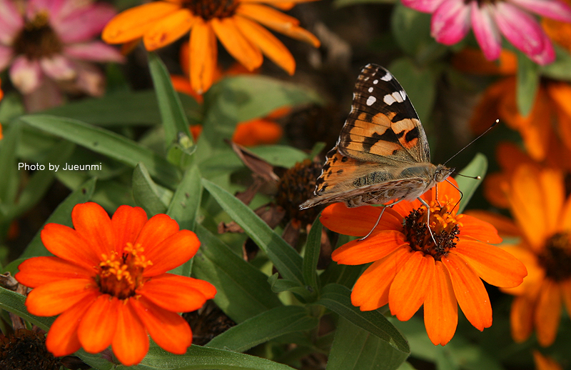
[[[460,234],[458,219],[462,215],[456,216],[452,213],[454,206],[453,201],[445,201],[442,206],[435,201],[430,203],[429,224],[432,235],[426,226],[426,207],[421,206],[411,211],[403,221],[403,234],[409,241],[410,248],[430,254],[437,261],[447,256],[448,251],[455,248]]]

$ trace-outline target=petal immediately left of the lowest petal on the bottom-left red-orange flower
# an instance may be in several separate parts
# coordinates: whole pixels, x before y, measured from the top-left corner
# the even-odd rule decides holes
[[[81,346],[97,354],[111,345],[117,327],[117,311],[123,303],[116,297],[101,294],[91,303],[77,328]]]

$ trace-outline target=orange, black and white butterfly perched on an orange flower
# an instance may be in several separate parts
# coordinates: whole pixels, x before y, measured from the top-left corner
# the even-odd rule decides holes
[[[315,181],[315,198],[300,209],[340,201],[348,207],[412,201],[453,171],[430,163],[423,125],[403,86],[382,66],[368,64],[355,84],[337,144]]]

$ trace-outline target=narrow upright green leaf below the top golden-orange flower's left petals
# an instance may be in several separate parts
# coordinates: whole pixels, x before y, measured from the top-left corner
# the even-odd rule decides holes
[[[179,134],[183,134],[192,143],[192,136],[188,131],[188,119],[186,119],[181,101],[173,89],[171,76],[168,74],[166,66],[155,53],[149,53],[148,67],[151,70],[151,77],[155,86],[158,108],[161,110],[166,147],[177,143]]]

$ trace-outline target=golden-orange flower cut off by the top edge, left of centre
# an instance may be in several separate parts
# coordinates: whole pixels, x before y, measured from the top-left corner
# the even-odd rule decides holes
[[[287,10],[302,1],[308,0],[154,1],[115,16],[103,29],[101,37],[110,44],[143,38],[146,49],[151,51],[171,44],[191,31],[191,84],[194,91],[203,94],[210,88],[216,71],[217,38],[248,70],[261,66],[262,54],[265,54],[288,74],[293,74],[295,60],[290,51],[263,26],[315,47],[319,46],[319,41],[298,26],[297,19],[260,3]]]

